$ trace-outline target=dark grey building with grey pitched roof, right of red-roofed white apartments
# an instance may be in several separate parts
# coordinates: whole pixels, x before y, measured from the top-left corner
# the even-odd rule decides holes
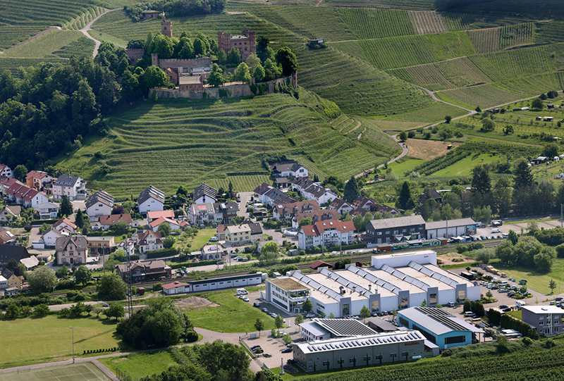
[[[372,220],[366,225],[366,234],[375,244],[421,239],[425,237],[425,220],[419,215]]]

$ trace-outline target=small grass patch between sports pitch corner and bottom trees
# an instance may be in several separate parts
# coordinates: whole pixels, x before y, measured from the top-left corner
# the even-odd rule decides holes
[[[118,369],[125,371],[125,374],[133,377],[133,380],[161,373],[169,366],[176,364],[169,351],[150,351],[121,357],[100,358],[100,362],[114,373]]]

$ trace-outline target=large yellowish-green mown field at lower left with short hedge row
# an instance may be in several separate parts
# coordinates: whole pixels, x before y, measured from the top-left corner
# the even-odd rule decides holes
[[[0,368],[28,365],[47,360],[47,357],[71,358],[74,327],[75,354],[82,356],[87,349],[106,349],[126,346],[116,335],[115,319],[99,319],[95,316],[67,319],[59,316],[0,320],[4,349],[0,356]],[[24,345],[23,342],[31,345]],[[49,361],[54,361],[49,358]]]

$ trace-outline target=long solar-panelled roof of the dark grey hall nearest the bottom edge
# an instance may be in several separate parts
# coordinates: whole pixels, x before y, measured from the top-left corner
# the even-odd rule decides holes
[[[312,354],[339,349],[355,348],[360,346],[379,346],[388,344],[407,344],[409,342],[424,341],[423,335],[418,331],[382,332],[371,336],[338,337],[335,339],[317,340],[307,343],[294,344],[304,354]]]

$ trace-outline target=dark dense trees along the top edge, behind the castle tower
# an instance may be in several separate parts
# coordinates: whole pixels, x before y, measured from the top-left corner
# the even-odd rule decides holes
[[[131,20],[141,21],[144,19],[144,9],[164,11],[170,17],[185,17],[221,13],[226,3],[226,0],[156,0],[139,6],[125,6],[123,10],[128,13]]]

